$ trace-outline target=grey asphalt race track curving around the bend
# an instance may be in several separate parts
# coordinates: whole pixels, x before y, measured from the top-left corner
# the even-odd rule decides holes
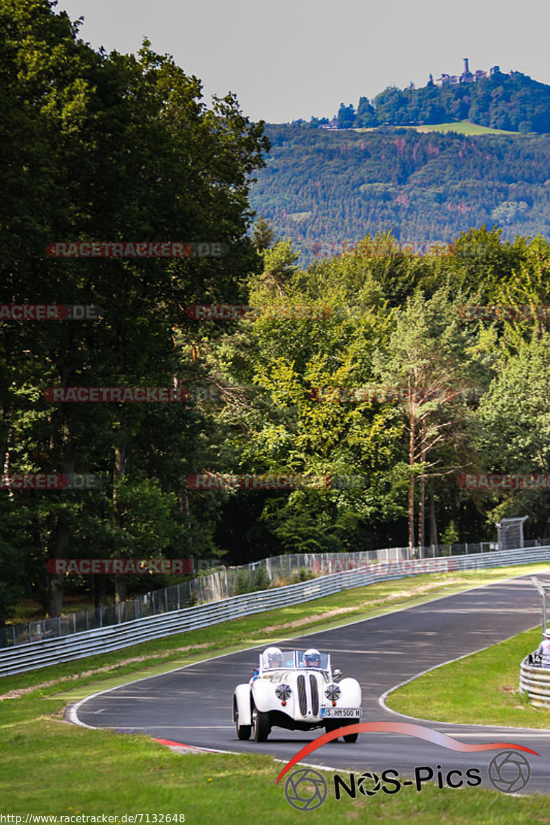
[[[550,731],[431,724],[429,695],[423,720],[395,714],[378,702],[385,691],[398,683],[508,639],[534,627],[539,620],[540,596],[529,577],[520,577],[277,643],[283,648],[315,647],[331,653],[333,667],[340,667],[344,676],[360,681],[362,722],[415,722],[468,744],[512,742],[532,748],[540,757],[526,754],[532,775],[523,793],[548,793]],[[210,659],[93,695],[79,702],[69,718],[94,728],[124,728],[186,745],[266,753],[289,761],[324,730],[303,733],[273,728],[267,742],[256,744],[253,740],[239,741],[232,723],[234,687],[248,681],[257,662],[256,651],[264,647]],[[456,691],[459,708],[459,684]],[[355,744],[341,739],[328,742],[304,761],[358,772],[393,768],[400,775],[409,776],[414,774],[415,766],[431,766],[434,771],[441,766],[444,774],[452,769],[464,772],[477,767],[481,769],[482,785],[491,787],[487,766],[497,752],[460,753],[402,734],[360,733]]]

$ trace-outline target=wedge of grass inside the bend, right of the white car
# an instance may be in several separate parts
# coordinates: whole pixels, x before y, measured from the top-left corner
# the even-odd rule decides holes
[[[550,728],[550,709],[535,708],[519,693],[519,662],[538,647],[540,629],[527,630],[480,653],[419,676],[388,696],[400,714],[438,722]]]

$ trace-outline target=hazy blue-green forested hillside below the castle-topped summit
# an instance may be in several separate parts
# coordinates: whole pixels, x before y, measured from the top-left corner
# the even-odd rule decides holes
[[[451,241],[470,227],[550,238],[550,134],[402,134],[269,125],[271,150],[251,205],[289,238],[299,262],[313,244]]]

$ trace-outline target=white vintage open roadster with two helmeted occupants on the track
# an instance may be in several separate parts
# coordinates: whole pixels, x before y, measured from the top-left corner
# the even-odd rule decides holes
[[[361,687],[332,670],[331,657],[317,650],[267,648],[249,682],[233,695],[233,722],[239,739],[265,742],[271,728],[328,732],[360,721]],[[355,742],[357,733],[344,734]]]

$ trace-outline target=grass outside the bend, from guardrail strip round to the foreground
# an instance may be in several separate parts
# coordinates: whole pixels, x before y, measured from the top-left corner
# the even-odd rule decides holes
[[[256,823],[258,818],[295,823],[305,813],[290,808],[276,778],[282,765],[258,754],[229,755],[168,750],[145,736],[90,730],[63,719],[67,702],[153,675],[209,655],[242,649],[411,606],[478,584],[548,564],[479,572],[419,576],[359,587],[303,605],[225,622],[78,662],[0,681],[0,813],[186,815],[186,823]],[[517,667],[516,659],[515,666]],[[101,669],[101,672],[99,671]],[[508,696],[503,694],[503,699]],[[261,746],[259,746],[261,747]],[[352,746],[350,746],[352,747]],[[361,765],[361,771],[369,768]],[[331,774],[327,773],[330,784]],[[509,798],[468,788],[372,798],[329,798],[316,823],[376,818],[379,823],[550,823],[546,797]],[[153,822],[153,818],[150,820]],[[313,819],[312,819],[313,821]]]

